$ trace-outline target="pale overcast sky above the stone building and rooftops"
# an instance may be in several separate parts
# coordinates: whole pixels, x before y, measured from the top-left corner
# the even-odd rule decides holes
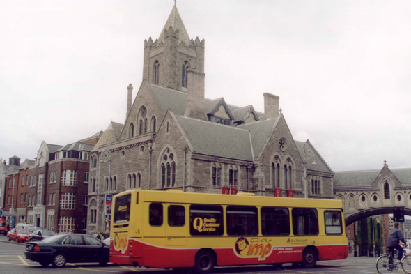
[[[33,159],[124,123],[144,39],[172,0],[10,1],[0,10],[0,157]],[[411,167],[411,1],[194,1],[177,7],[206,39],[206,97],[280,96],[296,140],[334,171]]]

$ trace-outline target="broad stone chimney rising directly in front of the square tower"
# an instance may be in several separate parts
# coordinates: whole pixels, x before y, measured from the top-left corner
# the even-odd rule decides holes
[[[206,73],[189,68],[187,70],[187,100],[184,116],[208,121],[204,109],[204,82]]]

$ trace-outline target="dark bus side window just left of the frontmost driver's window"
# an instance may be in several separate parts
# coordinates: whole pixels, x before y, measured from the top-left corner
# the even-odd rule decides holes
[[[293,208],[293,233],[318,235],[318,212],[314,208]]]

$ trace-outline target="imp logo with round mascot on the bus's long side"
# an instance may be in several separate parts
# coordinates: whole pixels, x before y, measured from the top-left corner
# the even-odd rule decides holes
[[[235,253],[242,258],[258,258],[258,261],[265,260],[272,253],[272,245],[269,239],[241,237],[235,242]]]

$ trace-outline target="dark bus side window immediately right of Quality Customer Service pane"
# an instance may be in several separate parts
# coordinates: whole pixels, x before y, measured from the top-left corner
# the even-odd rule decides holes
[[[255,206],[227,206],[227,234],[231,236],[257,236],[257,208]]]

